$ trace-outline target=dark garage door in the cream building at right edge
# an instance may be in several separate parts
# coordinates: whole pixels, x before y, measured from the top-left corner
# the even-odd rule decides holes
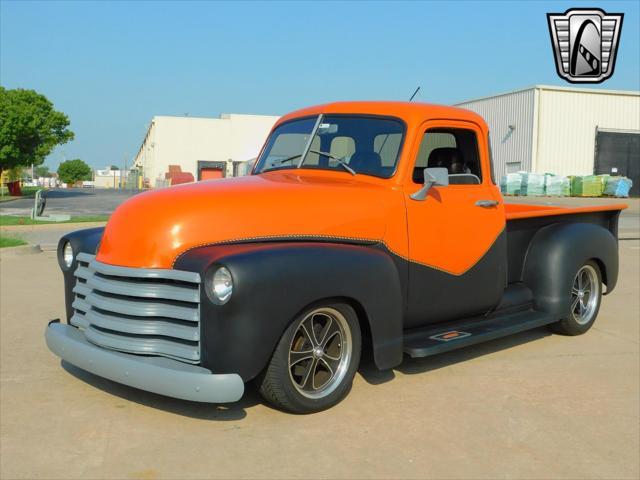
[[[633,181],[630,194],[640,195],[640,132],[597,132],[595,173],[624,175]]]

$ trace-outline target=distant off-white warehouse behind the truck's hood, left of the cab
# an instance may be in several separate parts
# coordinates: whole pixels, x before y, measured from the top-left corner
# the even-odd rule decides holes
[[[272,115],[222,114],[220,118],[155,116],[134,166],[144,185],[165,186],[178,173],[182,181],[208,180],[240,171],[260,152]]]

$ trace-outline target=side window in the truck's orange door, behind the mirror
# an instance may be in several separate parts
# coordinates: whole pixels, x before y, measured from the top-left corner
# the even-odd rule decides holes
[[[420,142],[413,169],[413,181],[424,183],[426,167],[443,167],[449,171],[452,185],[479,185],[482,168],[478,138],[473,130],[434,128],[427,130]]]

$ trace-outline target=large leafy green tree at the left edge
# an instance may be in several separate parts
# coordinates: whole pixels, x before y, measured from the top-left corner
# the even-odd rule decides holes
[[[34,90],[0,87],[0,173],[40,165],[56,145],[73,139],[69,118]]]

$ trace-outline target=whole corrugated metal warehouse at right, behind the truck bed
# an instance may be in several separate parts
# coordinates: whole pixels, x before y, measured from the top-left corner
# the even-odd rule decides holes
[[[537,85],[457,104],[489,124],[496,178],[609,173],[640,192],[640,92]]]

